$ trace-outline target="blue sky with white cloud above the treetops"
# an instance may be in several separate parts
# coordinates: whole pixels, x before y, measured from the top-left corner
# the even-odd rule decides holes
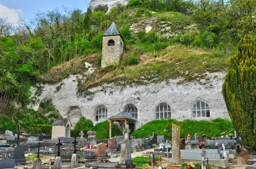
[[[15,23],[19,17],[27,21],[34,19],[38,11],[52,11],[62,6],[69,9],[79,8],[86,12],[90,0],[0,0],[0,17]],[[65,12],[63,11],[63,14]]]

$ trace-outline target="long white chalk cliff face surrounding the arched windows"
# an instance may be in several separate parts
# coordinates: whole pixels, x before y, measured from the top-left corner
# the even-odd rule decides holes
[[[70,112],[71,122],[78,121],[81,116],[96,124],[96,110],[99,107],[108,109],[108,118],[124,111],[125,106],[134,104],[138,110],[137,128],[156,119],[156,107],[160,103],[167,103],[172,109],[171,118],[179,121],[184,119],[210,120],[214,118],[229,118],[227,108],[221,94],[224,83],[224,72],[207,73],[209,80],[177,84],[179,79],[169,79],[168,82],[151,83],[149,85],[133,85],[120,87],[105,85],[90,89],[89,96],[77,94],[78,76],[70,76],[57,85],[44,85],[43,92],[38,99],[52,99],[52,103],[61,115],[66,118]],[[201,85],[204,84],[205,85]],[[61,85],[62,84],[62,85]],[[56,91],[56,87],[61,89]],[[193,118],[192,106],[196,101],[205,101],[210,108],[210,117]],[[40,102],[40,101],[39,101]],[[38,105],[33,107],[38,109]],[[73,120],[74,121],[73,121]]]

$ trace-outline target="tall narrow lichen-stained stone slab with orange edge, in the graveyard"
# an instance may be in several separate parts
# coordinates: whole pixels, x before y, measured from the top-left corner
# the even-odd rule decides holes
[[[180,165],[180,127],[172,124],[172,164]]]

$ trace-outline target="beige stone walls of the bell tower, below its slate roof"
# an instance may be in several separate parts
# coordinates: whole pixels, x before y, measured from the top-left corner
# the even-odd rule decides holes
[[[113,39],[115,45],[108,46],[108,41]],[[119,35],[116,36],[104,36],[102,42],[102,62],[101,68],[106,66],[118,64],[119,59],[123,53],[123,40]]]

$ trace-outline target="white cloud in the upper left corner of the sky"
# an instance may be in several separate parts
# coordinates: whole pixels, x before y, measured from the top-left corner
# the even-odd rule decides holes
[[[19,18],[18,15],[22,12],[23,12],[22,9],[10,9],[10,8],[0,4],[0,17],[2,17],[2,18],[7,17],[7,20],[9,22],[15,23]]]

